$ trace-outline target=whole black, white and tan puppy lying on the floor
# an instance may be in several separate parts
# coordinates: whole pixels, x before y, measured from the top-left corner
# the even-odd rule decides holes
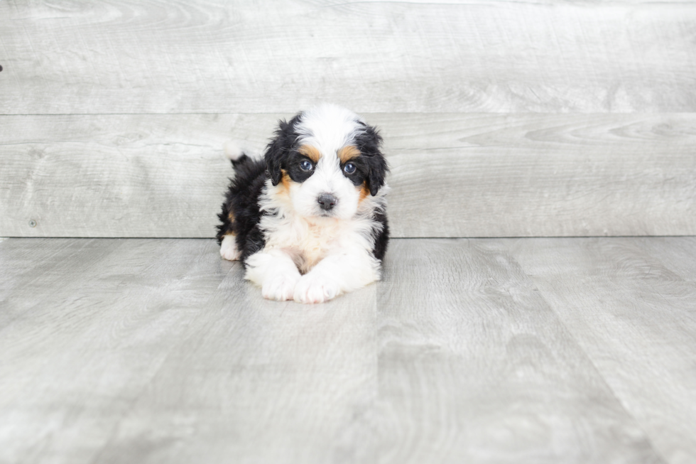
[[[381,136],[325,104],[281,120],[263,160],[228,153],[219,219],[224,259],[241,259],[264,298],[321,303],[379,280],[388,242]]]

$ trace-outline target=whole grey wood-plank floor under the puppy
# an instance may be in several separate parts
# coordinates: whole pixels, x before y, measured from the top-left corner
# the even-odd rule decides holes
[[[398,239],[301,306],[210,239],[0,239],[0,463],[694,463],[695,263]]]

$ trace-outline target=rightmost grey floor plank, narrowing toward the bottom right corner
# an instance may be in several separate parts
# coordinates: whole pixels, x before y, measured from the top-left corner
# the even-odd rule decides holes
[[[696,275],[680,276],[696,260],[693,237],[514,243],[511,253],[660,455],[694,462]]]

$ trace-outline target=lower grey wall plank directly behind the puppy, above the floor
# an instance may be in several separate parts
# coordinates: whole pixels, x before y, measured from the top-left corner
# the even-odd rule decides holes
[[[288,116],[0,117],[0,235],[212,237],[224,142],[261,153]],[[696,234],[694,114],[364,116],[393,237]]]

